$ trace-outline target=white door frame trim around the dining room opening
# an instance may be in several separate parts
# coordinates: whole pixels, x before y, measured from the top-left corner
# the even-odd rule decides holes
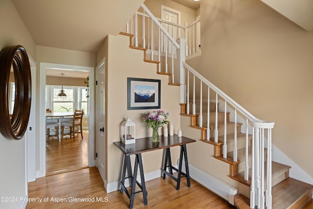
[[[89,167],[95,166],[94,157],[94,68],[54,63],[40,63],[39,77],[39,170],[37,178],[45,176],[45,86],[46,69],[89,71]]]

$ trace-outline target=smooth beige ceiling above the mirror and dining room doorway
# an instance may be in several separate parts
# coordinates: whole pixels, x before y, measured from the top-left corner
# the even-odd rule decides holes
[[[37,45],[85,52],[122,31],[143,1],[12,0]]]

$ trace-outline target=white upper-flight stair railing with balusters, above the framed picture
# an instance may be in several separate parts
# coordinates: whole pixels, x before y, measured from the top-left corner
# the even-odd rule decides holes
[[[172,74],[171,82],[175,83],[177,50],[180,49],[179,39],[186,38],[184,54],[186,56],[200,53],[200,18],[187,25],[179,25],[156,18],[149,9],[142,4],[142,12],[137,11],[126,24],[124,32],[134,34],[134,46],[147,49],[151,61],[158,61],[165,73]],[[181,34],[181,37],[179,36]],[[173,38],[178,35],[178,40]],[[176,79],[179,83],[179,79]]]

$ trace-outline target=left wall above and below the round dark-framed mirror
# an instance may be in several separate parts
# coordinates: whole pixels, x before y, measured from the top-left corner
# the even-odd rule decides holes
[[[0,50],[22,45],[36,59],[36,45],[10,0],[0,1]],[[25,197],[25,138],[6,139],[0,135],[0,197]],[[0,208],[18,209],[22,202],[0,202]]]

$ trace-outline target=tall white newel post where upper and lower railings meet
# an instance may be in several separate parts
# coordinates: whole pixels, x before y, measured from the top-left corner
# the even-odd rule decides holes
[[[185,55],[185,43],[186,40],[184,38],[179,38],[177,40],[177,43],[179,44],[179,48],[177,49],[177,66],[178,66],[178,77],[179,77],[179,83],[180,83],[180,100],[179,103],[186,103],[186,76],[185,76],[185,70],[182,66],[182,62],[185,62],[186,55]]]

